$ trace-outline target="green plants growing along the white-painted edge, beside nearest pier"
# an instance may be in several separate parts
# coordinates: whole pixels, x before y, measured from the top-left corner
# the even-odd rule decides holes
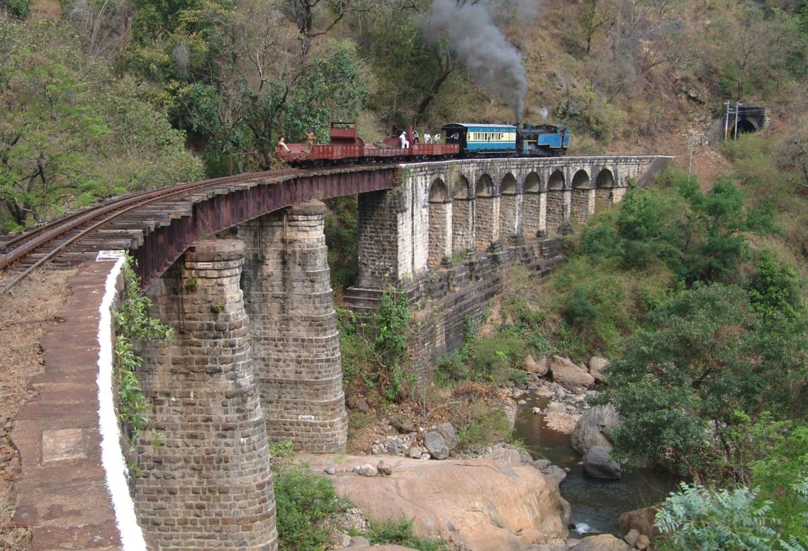
[[[149,426],[145,417],[148,401],[137,381],[137,368],[143,360],[135,351],[135,344],[146,340],[170,339],[170,327],[149,316],[149,297],[141,294],[140,280],[133,270],[133,259],[124,263],[124,300],[115,313],[115,382],[118,388],[118,418],[134,449],[143,431]],[[162,435],[153,431],[152,444],[158,444]]]

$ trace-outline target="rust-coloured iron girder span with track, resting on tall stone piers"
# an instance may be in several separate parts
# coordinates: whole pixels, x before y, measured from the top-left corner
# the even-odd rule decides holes
[[[398,165],[274,170],[178,183],[109,200],[0,243],[0,294],[44,263],[128,250],[144,287],[191,243],[280,208],[393,187]]]

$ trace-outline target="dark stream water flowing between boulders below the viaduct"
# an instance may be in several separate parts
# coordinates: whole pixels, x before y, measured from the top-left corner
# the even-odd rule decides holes
[[[675,479],[650,469],[622,473],[620,480],[601,480],[583,474],[582,456],[570,446],[570,436],[545,426],[544,414],[532,413],[533,407],[545,409],[549,398],[528,400],[520,406],[516,418],[516,437],[534,459],[548,459],[553,465],[569,469],[561,484],[562,496],[570,502],[575,530],[584,533],[620,536],[617,518],[626,511],[646,507],[675,489]]]

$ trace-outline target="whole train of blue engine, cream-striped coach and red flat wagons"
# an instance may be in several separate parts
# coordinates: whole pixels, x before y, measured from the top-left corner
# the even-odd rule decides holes
[[[435,161],[448,158],[547,157],[570,146],[570,132],[561,124],[444,124],[433,143],[414,143],[413,131],[402,131],[409,147],[402,147],[393,130],[384,141],[365,145],[356,123],[331,123],[327,144],[278,145],[278,158],[292,166],[322,166],[367,162]]]

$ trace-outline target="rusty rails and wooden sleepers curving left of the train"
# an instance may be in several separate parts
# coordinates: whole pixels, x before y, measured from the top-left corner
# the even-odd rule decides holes
[[[208,195],[218,188],[241,183],[271,183],[310,172],[273,170],[180,183],[161,190],[122,196],[41,225],[0,244],[0,270],[6,272],[6,277],[0,282],[0,294],[36,268],[57,258],[64,258],[65,263],[78,263],[95,256],[98,250],[128,249],[133,241],[142,238],[150,225],[154,225],[159,212],[183,210],[191,196]]]

